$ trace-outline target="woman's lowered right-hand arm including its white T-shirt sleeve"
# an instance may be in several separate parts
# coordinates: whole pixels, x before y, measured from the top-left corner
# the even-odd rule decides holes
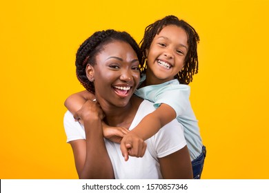
[[[164,179],[192,179],[192,165],[183,125],[173,120],[161,128],[152,140]]]

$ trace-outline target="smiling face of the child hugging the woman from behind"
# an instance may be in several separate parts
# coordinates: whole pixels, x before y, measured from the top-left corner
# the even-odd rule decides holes
[[[153,39],[148,58],[147,79],[150,84],[159,84],[175,79],[181,71],[188,52],[188,36],[182,28],[169,25]]]

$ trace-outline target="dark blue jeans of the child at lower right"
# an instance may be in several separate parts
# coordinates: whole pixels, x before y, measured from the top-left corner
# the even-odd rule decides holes
[[[206,147],[203,146],[201,154],[197,159],[192,160],[193,179],[201,179],[201,172],[203,172],[203,163],[206,158]]]

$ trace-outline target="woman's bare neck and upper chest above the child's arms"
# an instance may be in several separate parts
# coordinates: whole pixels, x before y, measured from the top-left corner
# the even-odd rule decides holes
[[[129,103],[125,107],[102,107],[103,112],[106,114],[104,121],[106,124],[112,127],[130,128],[130,125],[132,124],[135,114],[137,114],[137,110],[142,101],[143,100],[137,96],[132,96]]]

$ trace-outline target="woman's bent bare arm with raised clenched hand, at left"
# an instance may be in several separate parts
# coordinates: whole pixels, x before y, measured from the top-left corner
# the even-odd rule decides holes
[[[79,179],[114,179],[112,163],[103,141],[101,108],[96,102],[87,101],[77,114],[83,119],[86,132],[86,140],[70,141]]]

